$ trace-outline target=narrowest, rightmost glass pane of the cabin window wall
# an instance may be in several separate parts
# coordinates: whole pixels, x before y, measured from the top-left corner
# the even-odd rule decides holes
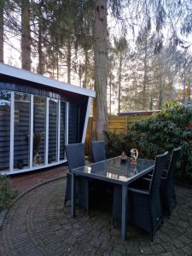
[[[61,125],[60,125],[60,160],[65,158],[65,113],[66,102],[61,102]]]

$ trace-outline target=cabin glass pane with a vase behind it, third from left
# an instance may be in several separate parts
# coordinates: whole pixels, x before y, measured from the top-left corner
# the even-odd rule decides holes
[[[34,96],[33,102],[33,166],[38,166],[45,160],[46,99]]]

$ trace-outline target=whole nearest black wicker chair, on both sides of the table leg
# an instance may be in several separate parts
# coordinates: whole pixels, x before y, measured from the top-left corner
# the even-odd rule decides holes
[[[160,203],[160,179],[164,171],[168,152],[156,156],[151,182],[139,179],[128,188],[128,220],[150,233],[154,233],[163,223]],[[113,218],[121,218],[121,189],[115,186],[113,195]]]

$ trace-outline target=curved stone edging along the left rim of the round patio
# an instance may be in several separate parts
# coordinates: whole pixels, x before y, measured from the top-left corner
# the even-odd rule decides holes
[[[23,197],[27,193],[31,192],[33,189],[37,189],[38,187],[41,187],[41,186],[43,186],[43,185],[45,185],[47,183],[51,183],[51,182],[54,182],[56,180],[59,180],[61,178],[66,178],[66,177],[67,177],[67,174],[65,174],[62,177],[50,178],[50,179],[44,181],[43,183],[38,183],[37,185],[32,186],[30,189],[27,189],[25,192],[23,192],[20,195],[16,196],[15,199],[9,204],[9,207],[7,209],[3,210],[2,212],[0,212],[0,231],[3,229],[3,223],[4,223],[5,218],[7,217],[8,212],[15,205],[15,203],[20,200],[21,197]]]

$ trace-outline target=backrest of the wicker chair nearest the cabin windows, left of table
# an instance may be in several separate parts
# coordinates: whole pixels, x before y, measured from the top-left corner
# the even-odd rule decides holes
[[[66,145],[66,155],[69,172],[74,168],[85,166],[84,143]]]

